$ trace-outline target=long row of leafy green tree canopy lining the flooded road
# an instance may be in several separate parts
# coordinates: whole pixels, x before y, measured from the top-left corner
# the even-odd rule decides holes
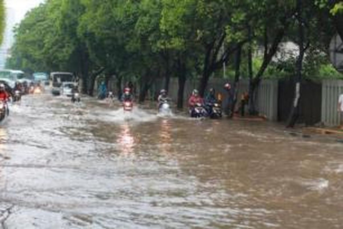
[[[342,3],[303,0],[303,5],[309,63],[304,69],[308,75],[325,69],[332,75],[327,50],[331,37],[341,34]],[[253,91],[269,72],[293,74],[287,63],[295,61],[274,57],[280,43],[298,43],[297,23],[295,0],[47,0],[15,28],[8,67],[73,71],[90,94],[99,73],[133,78],[144,100],[158,78],[165,78],[168,88],[170,77],[177,77],[182,96],[185,80],[197,77],[203,94],[223,64],[234,71],[239,51],[239,61],[252,67],[241,64],[236,72],[250,75]],[[311,65],[316,61],[319,65]]]

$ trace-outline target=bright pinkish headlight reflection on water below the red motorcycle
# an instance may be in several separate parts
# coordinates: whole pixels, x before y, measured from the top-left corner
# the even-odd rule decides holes
[[[135,147],[135,140],[128,123],[120,125],[120,135],[118,136],[117,141],[119,149],[123,154],[128,155],[133,152]]]

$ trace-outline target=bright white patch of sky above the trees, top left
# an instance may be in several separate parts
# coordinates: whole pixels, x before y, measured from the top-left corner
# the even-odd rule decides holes
[[[5,6],[15,12],[15,23],[19,23],[30,9],[43,3],[44,0],[5,0]]]

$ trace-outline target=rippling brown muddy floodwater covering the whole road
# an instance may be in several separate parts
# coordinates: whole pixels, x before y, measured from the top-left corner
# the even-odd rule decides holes
[[[273,124],[27,96],[0,128],[4,228],[342,228],[343,144]]]

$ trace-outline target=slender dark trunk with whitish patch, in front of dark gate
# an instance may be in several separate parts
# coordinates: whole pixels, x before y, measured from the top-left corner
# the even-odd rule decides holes
[[[287,121],[287,127],[294,127],[300,114],[300,88],[301,88],[301,70],[303,69],[304,59],[304,21],[303,21],[303,5],[302,0],[297,0],[297,20],[298,20],[298,36],[299,36],[299,56],[297,59],[297,74],[295,80],[294,102],[291,108],[291,113]]]

